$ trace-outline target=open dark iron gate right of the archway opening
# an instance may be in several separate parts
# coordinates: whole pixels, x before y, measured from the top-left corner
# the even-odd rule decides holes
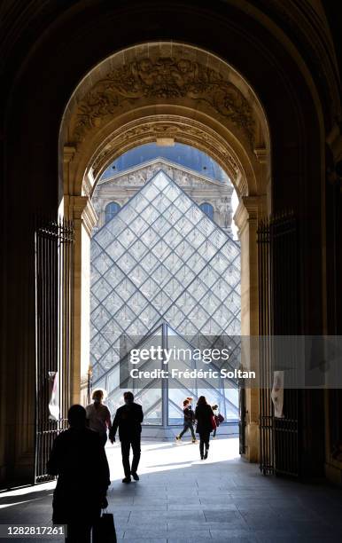
[[[260,470],[299,476],[300,391],[284,389],[284,418],[271,400],[273,335],[299,331],[298,228],[293,214],[271,217],[258,228],[260,312]],[[286,376],[285,376],[286,378]]]

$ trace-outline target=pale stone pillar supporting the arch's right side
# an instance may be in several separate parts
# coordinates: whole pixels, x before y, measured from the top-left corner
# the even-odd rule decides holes
[[[265,198],[243,197],[234,215],[241,242],[241,334],[259,334],[258,299],[258,218],[265,213]],[[248,353],[246,353],[248,356]],[[251,369],[258,370],[259,360],[252,358]],[[251,462],[259,460],[259,390],[245,390],[246,428],[245,458]]]

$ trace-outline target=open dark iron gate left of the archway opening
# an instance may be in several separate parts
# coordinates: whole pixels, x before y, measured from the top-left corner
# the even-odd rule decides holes
[[[35,483],[48,481],[51,445],[66,428],[72,352],[74,227],[35,226]]]

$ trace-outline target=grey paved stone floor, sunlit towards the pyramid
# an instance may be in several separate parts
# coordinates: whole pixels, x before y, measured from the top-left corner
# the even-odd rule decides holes
[[[118,540],[342,541],[341,490],[261,476],[257,466],[238,458],[237,447],[236,438],[218,438],[209,459],[200,461],[189,437],[180,444],[145,442],[140,481],[127,485],[121,483],[119,445],[107,446],[109,510]],[[0,493],[0,523],[51,523],[53,486]]]

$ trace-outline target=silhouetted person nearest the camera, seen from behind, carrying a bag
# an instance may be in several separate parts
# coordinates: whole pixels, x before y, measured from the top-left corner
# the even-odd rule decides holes
[[[67,525],[66,541],[89,543],[91,528],[106,505],[108,462],[98,433],[86,427],[82,405],[70,407],[68,421],[70,428],[56,437],[48,462],[48,473],[58,476],[52,521]]]

